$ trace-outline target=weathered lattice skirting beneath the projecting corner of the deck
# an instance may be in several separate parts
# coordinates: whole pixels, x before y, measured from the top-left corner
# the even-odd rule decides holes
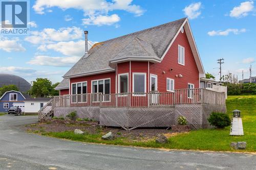
[[[191,129],[201,129],[208,127],[205,120],[212,111],[226,112],[226,106],[181,104],[175,107],[100,108],[99,121],[101,126],[131,130],[139,127],[170,127],[177,125],[179,116],[185,116]]]

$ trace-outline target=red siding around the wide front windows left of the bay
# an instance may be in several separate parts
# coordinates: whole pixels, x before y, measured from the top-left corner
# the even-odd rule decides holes
[[[91,93],[92,80],[106,79],[106,78],[110,78],[110,86],[111,86],[110,91],[111,91],[111,93],[115,93],[115,82],[116,82],[115,71],[106,72],[106,73],[98,74],[98,75],[72,78],[72,79],[70,79],[70,87],[71,87],[71,83],[87,81],[87,93]],[[70,89],[70,94],[71,94],[71,89]]]

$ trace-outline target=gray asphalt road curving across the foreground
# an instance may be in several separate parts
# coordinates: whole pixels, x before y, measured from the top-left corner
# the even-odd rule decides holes
[[[0,116],[0,169],[256,169],[256,155],[162,151],[28,134],[36,116]],[[189,142],[189,141],[188,141]]]

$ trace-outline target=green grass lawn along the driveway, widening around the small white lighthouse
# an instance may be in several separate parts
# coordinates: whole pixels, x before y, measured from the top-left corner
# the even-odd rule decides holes
[[[101,140],[101,134],[75,135],[73,132],[51,132],[43,135],[66,138],[77,141],[94,143],[134,145],[138,147],[185,149],[185,150],[211,150],[211,151],[233,151],[229,147],[232,141],[246,141],[247,148],[244,151],[256,151],[256,95],[228,96],[226,101],[227,113],[239,109],[243,116],[244,136],[230,136],[230,127],[223,130],[202,129],[179,134],[169,138],[166,144],[158,144],[155,141],[131,142],[125,138],[117,138],[113,141]]]

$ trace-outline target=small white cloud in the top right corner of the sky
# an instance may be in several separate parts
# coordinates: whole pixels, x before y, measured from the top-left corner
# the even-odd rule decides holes
[[[240,4],[238,7],[234,7],[231,11],[229,16],[241,18],[247,16],[250,11],[254,8],[253,1],[246,1]]]

